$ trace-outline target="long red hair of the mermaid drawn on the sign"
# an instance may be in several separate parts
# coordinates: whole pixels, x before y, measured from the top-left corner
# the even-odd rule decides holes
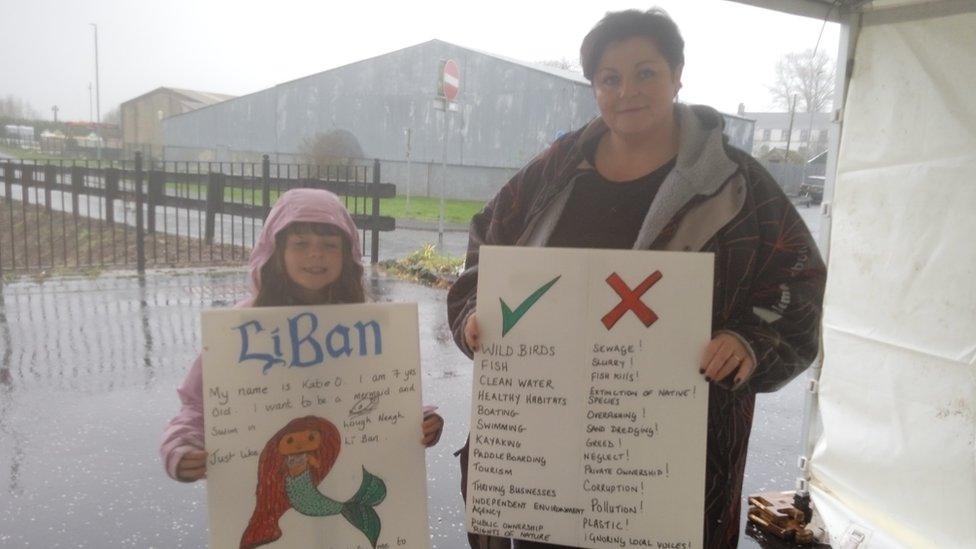
[[[320,465],[309,469],[315,486],[329,474],[339,457],[342,446],[339,429],[327,419],[315,416],[296,418],[275,433],[261,451],[258,461],[257,503],[251,521],[241,536],[240,549],[253,549],[281,537],[278,519],[291,508],[291,504],[285,494],[285,459],[278,452],[278,443],[285,435],[298,431],[317,431],[322,437],[322,443],[312,451]]]

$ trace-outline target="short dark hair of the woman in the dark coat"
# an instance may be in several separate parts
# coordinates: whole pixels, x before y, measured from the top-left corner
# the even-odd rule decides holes
[[[583,38],[580,46],[580,64],[583,76],[590,82],[600,63],[607,45],[635,36],[650,39],[668,61],[671,70],[685,62],[685,41],[681,38],[678,25],[674,24],[668,12],[661,8],[647,11],[611,11],[600,19]]]

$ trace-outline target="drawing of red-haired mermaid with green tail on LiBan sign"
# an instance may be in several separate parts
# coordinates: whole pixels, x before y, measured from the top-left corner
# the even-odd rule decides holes
[[[345,502],[318,490],[339,457],[341,446],[339,429],[315,416],[294,419],[271,437],[258,461],[257,503],[241,536],[241,549],[280,538],[278,519],[289,508],[310,517],[341,514],[376,547],[380,518],[373,507],[386,497],[382,479],[363,468],[359,490]]]

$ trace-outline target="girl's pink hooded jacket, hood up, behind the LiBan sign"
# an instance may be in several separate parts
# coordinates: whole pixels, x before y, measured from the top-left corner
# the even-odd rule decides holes
[[[251,271],[251,297],[235,307],[249,307],[261,287],[261,267],[274,254],[275,236],[279,231],[296,221],[328,223],[341,229],[352,244],[353,261],[362,265],[358,253],[359,236],[352,216],[339,201],[339,197],[325,190],[292,189],[278,198],[264,228],[254,243],[248,268]],[[163,458],[166,473],[176,479],[176,466],[183,455],[190,450],[202,450],[203,446],[203,361],[197,356],[190,367],[186,379],[177,389],[183,403],[180,413],[174,417],[163,432],[159,453]]]

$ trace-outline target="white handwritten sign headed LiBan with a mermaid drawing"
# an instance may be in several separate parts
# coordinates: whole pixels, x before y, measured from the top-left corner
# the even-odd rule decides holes
[[[211,547],[429,547],[416,305],[202,324]]]

